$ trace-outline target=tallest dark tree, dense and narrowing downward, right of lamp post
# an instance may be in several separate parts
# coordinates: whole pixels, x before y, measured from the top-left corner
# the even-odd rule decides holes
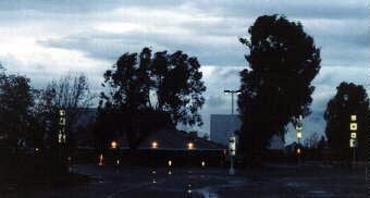
[[[247,160],[269,144],[273,134],[283,135],[289,122],[308,115],[311,81],[320,70],[320,50],[298,22],[285,16],[259,16],[240,38],[249,54],[249,66],[240,72],[238,110],[243,121],[243,147]]]

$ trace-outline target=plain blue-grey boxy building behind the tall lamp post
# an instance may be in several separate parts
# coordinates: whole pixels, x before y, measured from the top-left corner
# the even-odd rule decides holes
[[[212,141],[227,145],[229,136],[239,131],[242,121],[236,114],[211,114],[210,138]]]

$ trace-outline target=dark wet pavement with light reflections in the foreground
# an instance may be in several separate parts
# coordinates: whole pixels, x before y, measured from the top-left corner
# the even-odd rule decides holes
[[[270,164],[260,170],[215,168],[116,168],[73,165],[88,184],[13,191],[0,197],[27,198],[365,198],[365,168]]]

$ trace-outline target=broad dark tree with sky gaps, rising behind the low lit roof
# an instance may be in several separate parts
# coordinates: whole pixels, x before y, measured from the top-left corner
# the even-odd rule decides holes
[[[199,69],[197,59],[182,51],[152,55],[144,48],[139,54],[124,53],[103,75],[107,91],[99,104],[97,128],[104,125],[113,134],[102,134],[101,128],[97,136],[108,140],[125,133],[135,148],[156,128],[178,123],[201,125],[198,110],[205,103],[206,87]]]

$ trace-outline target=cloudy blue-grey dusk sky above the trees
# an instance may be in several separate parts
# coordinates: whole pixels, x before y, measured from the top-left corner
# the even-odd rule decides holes
[[[321,134],[322,113],[341,82],[369,87],[369,8],[366,0],[1,0],[0,62],[36,87],[67,71],[85,72],[99,91],[103,71],[124,52],[183,50],[202,65],[208,90],[200,129],[208,133],[209,114],[231,112],[223,89],[238,88],[247,66],[238,38],[259,15],[284,14],[321,48],[313,113],[305,121],[307,133]]]

